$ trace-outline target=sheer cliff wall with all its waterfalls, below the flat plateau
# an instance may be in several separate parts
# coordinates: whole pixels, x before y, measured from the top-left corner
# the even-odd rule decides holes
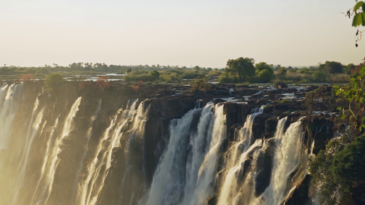
[[[335,113],[300,112],[318,86],[281,87],[5,82],[0,204],[318,204],[308,158],[335,136]]]

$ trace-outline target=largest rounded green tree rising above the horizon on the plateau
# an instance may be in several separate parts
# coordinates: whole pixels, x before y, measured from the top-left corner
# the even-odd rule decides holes
[[[245,81],[248,77],[255,75],[255,60],[253,58],[239,57],[237,59],[229,59],[227,67],[224,69],[228,75],[238,76],[239,81]]]

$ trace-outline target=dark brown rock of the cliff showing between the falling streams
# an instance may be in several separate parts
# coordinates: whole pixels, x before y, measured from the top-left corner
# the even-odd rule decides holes
[[[20,107],[20,112],[16,116],[16,119],[19,119],[19,124],[27,123],[28,117],[26,116],[31,115],[31,105],[34,104],[38,93],[42,92],[42,86],[42,82],[29,82],[29,84],[25,86],[27,93],[25,96],[26,105]],[[82,97],[80,105],[78,106],[77,115],[74,118],[76,128],[70,131],[69,138],[62,141],[62,144],[60,145],[63,149],[58,154],[60,162],[59,166],[55,168],[58,174],[54,177],[54,183],[57,184],[57,186],[52,190],[49,202],[51,204],[74,204],[72,202],[72,197],[64,197],[74,195],[73,190],[69,189],[69,184],[74,184],[75,181],[77,182],[79,179],[84,179],[84,176],[82,175],[80,175],[80,178],[78,179],[75,174],[80,167],[80,161],[84,162],[82,159],[85,156],[93,159],[92,157],[95,155],[95,153],[92,152],[95,150],[85,152],[86,154],[84,156],[80,150],[84,151],[85,144],[87,143],[90,147],[97,147],[105,133],[107,133],[106,130],[108,127],[112,125],[113,120],[118,119],[118,117],[122,115],[120,110],[125,111],[127,105],[137,98],[139,101],[138,104],[143,100],[148,99],[143,102],[144,104],[141,104],[144,105],[145,110],[148,110],[145,120],[141,122],[144,123],[142,126],[144,128],[142,132],[143,136],[139,136],[137,139],[133,138],[135,135],[131,132],[131,127],[134,126],[134,121],[132,120],[116,132],[117,135],[123,133],[123,138],[119,141],[120,146],[116,146],[110,153],[110,168],[107,169],[106,165],[102,165],[100,168],[101,171],[105,171],[106,174],[105,184],[100,192],[100,196],[97,197],[97,204],[121,204],[120,193],[122,191],[123,193],[130,194],[130,196],[124,197],[130,197],[128,198],[128,200],[132,201],[130,204],[137,204],[137,201],[133,201],[132,198],[134,194],[138,197],[144,196],[144,192],[149,189],[158,164],[162,159],[161,157],[168,146],[170,140],[170,124],[172,120],[180,119],[192,109],[202,108],[209,102],[213,102],[214,104],[222,103],[223,113],[226,116],[222,121],[222,123],[226,125],[226,131],[224,133],[226,134],[226,138],[223,136],[224,139],[220,139],[222,140],[222,145],[217,149],[220,153],[217,162],[217,176],[219,176],[219,179],[223,178],[222,173],[227,171],[225,170],[225,166],[231,157],[231,155],[228,155],[227,153],[232,149],[232,144],[238,141],[236,131],[245,124],[247,116],[251,114],[253,108],[259,108],[261,105],[266,105],[263,113],[254,117],[252,127],[250,127],[253,139],[250,139],[252,141],[250,141],[251,144],[245,146],[251,146],[255,140],[257,140],[256,143],[259,145],[255,145],[255,147],[247,153],[246,158],[242,159],[242,163],[238,164],[238,171],[235,174],[238,177],[237,181],[234,182],[243,186],[243,183],[247,178],[247,173],[257,173],[257,175],[254,175],[254,183],[251,184],[252,189],[254,189],[253,195],[255,195],[255,197],[264,193],[265,189],[270,185],[274,150],[277,146],[274,134],[277,129],[278,120],[287,117],[287,124],[284,125],[285,130],[291,122],[299,119],[305,121],[303,123],[303,149],[310,150],[310,143],[314,141],[314,154],[317,154],[319,150],[324,149],[326,142],[333,137],[334,121],[331,117],[318,115],[312,116],[311,120],[308,120],[308,116],[303,117],[307,115],[307,113],[301,112],[306,109],[306,107],[303,106],[302,100],[296,99],[290,102],[283,101],[285,103],[280,102],[281,98],[288,96],[288,94],[291,96],[295,96],[295,94],[303,96],[303,93],[299,92],[305,92],[295,88],[288,88],[288,86],[283,83],[275,85],[277,89],[272,89],[272,87],[258,88],[257,86],[246,85],[236,87],[233,84],[217,84],[212,86],[213,89],[209,92],[197,93],[186,92],[185,89],[187,86],[170,86],[171,85],[150,85],[149,87],[142,87],[141,90],[136,93],[125,85],[116,86],[110,90],[104,91],[98,89],[79,90],[75,83],[70,82],[62,85],[60,89],[55,90],[50,96],[46,93],[40,94],[38,96],[39,106],[45,107],[45,114],[42,118],[42,122],[49,123],[44,125],[44,133],[34,138],[36,142],[42,142],[44,141],[45,136],[50,135],[51,130],[53,130],[55,119],[59,118],[59,120],[64,123],[64,119],[68,115],[66,111],[70,110],[78,97]],[[315,86],[311,86],[308,90],[315,88]],[[319,92],[328,95],[331,93],[331,86],[321,86]],[[239,100],[238,102],[229,102],[228,100],[225,101],[219,98],[228,97],[233,93],[237,95],[235,99]],[[245,100],[247,97],[243,96],[249,96],[249,100]],[[96,114],[95,120],[91,120],[98,109],[97,106],[99,102],[101,102],[100,111]],[[326,105],[322,106],[321,104],[318,104],[318,107],[321,109],[325,108],[325,106]],[[137,115],[138,113],[136,111],[136,114],[130,118],[136,119],[138,118]],[[196,116],[197,119],[200,117],[199,115]],[[193,124],[197,124],[195,120],[192,121]],[[116,125],[112,126],[112,129],[114,129],[115,126]],[[60,127],[61,128],[55,129],[55,131],[62,132],[62,126]],[[196,130],[191,130],[191,132],[196,132]],[[14,133],[17,134],[18,130],[15,130]],[[108,146],[106,142],[100,144],[103,149]],[[240,149],[237,153],[241,155],[244,146],[238,145],[237,147]],[[36,146],[34,150],[32,150],[32,153],[37,153],[37,149],[42,150],[44,149],[44,146]],[[188,146],[185,150],[189,149],[192,148]],[[204,147],[198,151],[203,152]],[[126,155],[126,152],[130,153],[133,158],[126,157],[129,156]],[[31,156],[35,163],[30,163],[30,170],[42,166],[42,163],[37,160],[39,156],[42,155],[33,154]],[[97,155],[96,157],[96,159],[99,159],[101,156]],[[192,158],[192,156],[185,156],[186,160],[190,158]],[[84,163],[92,161],[90,159],[85,160]],[[216,158],[214,160],[216,160]],[[84,165],[81,164],[81,166]],[[128,176],[132,177],[123,178],[124,174],[128,173],[128,171],[130,171],[130,175]],[[70,176],[75,177],[70,179]],[[186,177],[186,173],[183,173],[182,176]],[[31,179],[29,182],[30,184],[37,182],[32,173],[27,173],[25,177]],[[295,187],[293,193],[291,193],[291,196],[286,201],[286,204],[306,204],[308,202],[310,175],[306,175],[305,177],[301,176],[301,179],[302,178],[303,181]],[[122,188],[121,184],[122,182],[125,182],[124,180],[126,180],[128,184],[136,183],[140,185],[141,189],[137,189],[137,192],[134,192],[134,187]],[[215,205],[218,203],[218,194],[222,184],[220,184],[221,182],[215,183],[213,181],[211,183],[215,193],[213,193],[207,201],[208,204]],[[239,189],[241,189],[241,187],[239,187]],[[25,198],[28,197],[26,195],[27,194],[23,194]]]

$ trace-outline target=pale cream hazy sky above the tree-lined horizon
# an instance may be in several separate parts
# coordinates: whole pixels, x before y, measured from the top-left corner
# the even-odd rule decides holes
[[[0,65],[360,63],[354,0],[0,0]],[[365,30],[365,28],[362,28]]]

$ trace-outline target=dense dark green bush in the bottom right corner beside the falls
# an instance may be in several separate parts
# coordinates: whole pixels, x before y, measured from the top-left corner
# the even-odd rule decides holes
[[[347,146],[330,141],[311,159],[312,182],[320,187],[320,204],[364,204],[365,202],[365,136]]]

